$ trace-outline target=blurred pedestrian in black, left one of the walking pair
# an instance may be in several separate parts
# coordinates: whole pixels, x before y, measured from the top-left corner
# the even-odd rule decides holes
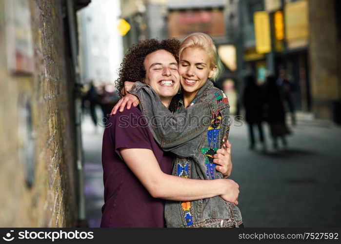
[[[264,120],[264,99],[261,87],[256,83],[254,76],[249,75],[245,78],[245,88],[242,96],[245,108],[245,119],[249,125],[250,149],[255,148],[254,126],[259,131],[259,140],[262,143],[263,151],[266,150],[262,122]]]

